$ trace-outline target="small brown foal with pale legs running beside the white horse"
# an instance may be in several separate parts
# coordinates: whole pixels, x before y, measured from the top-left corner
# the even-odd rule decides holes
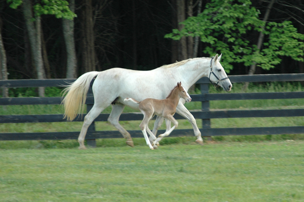
[[[178,122],[176,121],[176,119],[174,119],[173,115],[176,112],[176,107],[178,105],[179,98],[185,99],[186,102],[191,101],[190,95],[181,86],[181,82],[177,83],[177,86],[173,88],[173,90],[170,92],[166,99],[146,98],[141,102],[138,102],[136,99],[133,98],[125,98],[124,101],[132,101],[134,103],[139,104],[138,108],[143,114],[143,120],[140,123],[139,127],[150,149],[157,148],[156,144],[163,137],[168,136],[178,126]],[[167,130],[165,133],[160,134],[159,137],[151,144],[148,139],[146,130],[148,131],[149,135],[154,136],[154,134],[148,128],[148,123],[154,115],[162,116],[165,118]],[[170,123],[169,121],[174,124],[172,128],[170,128],[171,126],[167,125],[168,123]]]

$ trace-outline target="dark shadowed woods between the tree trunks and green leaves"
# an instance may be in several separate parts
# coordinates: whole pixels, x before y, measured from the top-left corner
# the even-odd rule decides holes
[[[34,0],[33,0],[34,2]],[[210,1],[203,0],[202,8]],[[304,34],[304,10],[300,0],[276,1],[270,21],[292,21],[299,33]],[[185,44],[164,38],[179,22],[197,16],[197,0],[75,0],[74,40],[77,55],[77,77],[88,71],[102,71],[113,67],[150,70],[165,64],[193,58],[195,41],[187,38]],[[252,1],[263,17],[269,1]],[[300,10],[298,9],[300,8]],[[65,78],[67,56],[62,19],[42,15],[42,55],[46,78]],[[11,9],[0,0],[0,27],[7,55],[9,79],[36,78],[30,54],[22,6]],[[258,32],[249,31],[252,43],[257,42]],[[199,42],[197,57],[207,44]],[[220,54],[220,51],[218,51]],[[223,57],[225,57],[223,55]],[[303,62],[282,57],[281,64],[262,73],[303,73]],[[231,75],[247,74],[248,67],[233,64]]]

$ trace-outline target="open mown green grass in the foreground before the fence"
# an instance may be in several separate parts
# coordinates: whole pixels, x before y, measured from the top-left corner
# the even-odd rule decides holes
[[[0,149],[0,201],[302,201],[303,146]]]

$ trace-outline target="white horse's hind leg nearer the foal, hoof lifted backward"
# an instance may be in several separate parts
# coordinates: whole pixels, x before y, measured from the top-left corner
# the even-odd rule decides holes
[[[115,128],[118,129],[118,131],[120,133],[122,133],[124,138],[127,139],[126,143],[129,146],[134,147],[134,143],[133,143],[130,133],[119,124],[119,117],[123,113],[124,108],[125,108],[125,105],[123,105],[121,103],[116,103],[115,105],[112,105],[112,111],[108,118],[108,122],[110,122]]]

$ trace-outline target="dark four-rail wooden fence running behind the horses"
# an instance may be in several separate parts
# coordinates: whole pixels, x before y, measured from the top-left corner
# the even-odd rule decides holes
[[[272,81],[304,81],[304,74],[267,74],[267,75],[240,75],[229,76],[232,83],[239,82],[272,82]],[[62,86],[66,82],[75,79],[33,79],[33,80],[0,80],[0,87],[51,87]],[[238,99],[290,99],[304,98],[304,91],[300,92],[257,92],[257,93],[209,93],[209,79],[204,77],[198,82],[201,94],[192,94],[192,102],[202,102],[202,110],[192,112],[196,119],[202,119],[202,136],[222,135],[270,135],[270,134],[301,134],[304,126],[288,127],[249,127],[249,128],[212,128],[210,119],[219,118],[249,118],[249,117],[296,117],[304,116],[304,109],[281,109],[281,110],[219,110],[210,111],[211,100],[238,100]],[[92,83],[91,83],[92,84]],[[0,105],[59,105],[61,97],[9,97],[0,98]],[[92,88],[88,92],[86,100],[89,111],[94,98]],[[107,121],[109,114],[100,114],[96,121]],[[62,114],[52,115],[2,115],[0,123],[41,123],[41,122],[65,122]],[[142,120],[140,113],[123,113],[120,121]],[[176,119],[184,119],[178,114]],[[74,121],[83,121],[84,116],[77,117]],[[200,124],[198,124],[200,125]],[[132,137],[143,137],[140,130],[129,131]],[[163,133],[164,130],[160,130]],[[193,136],[193,129],[177,129],[170,136]],[[0,140],[55,140],[77,139],[77,132],[36,132],[36,133],[0,133]],[[97,138],[121,138],[118,131],[96,131],[94,122],[89,127],[86,139],[92,146]]]

